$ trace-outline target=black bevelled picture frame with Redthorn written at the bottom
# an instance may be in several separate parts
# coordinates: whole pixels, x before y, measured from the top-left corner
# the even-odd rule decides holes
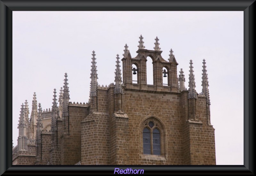
[[[113,165],[12,166],[12,11],[244,11],[244,165],[133,165],[132,168],[143,168],[146,175],[254,175],[254,1],[160,0],[154,2],[119,2],[99,0],[0,0],[0,175],[112,175],[117,167]],[[241,94],[242,92],[237,93]],[[126,169],[130,166],[118,167]]]

